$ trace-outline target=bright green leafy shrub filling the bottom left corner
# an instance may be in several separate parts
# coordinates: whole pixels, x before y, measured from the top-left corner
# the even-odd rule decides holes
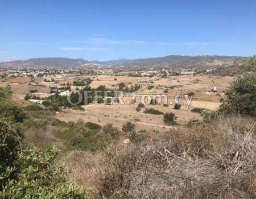
[[[19,154],[20,173],[6,181],[1,198],[89,198],[89,190],[67,183],[68,171],[56,163],[57,149],[36,147]]]

